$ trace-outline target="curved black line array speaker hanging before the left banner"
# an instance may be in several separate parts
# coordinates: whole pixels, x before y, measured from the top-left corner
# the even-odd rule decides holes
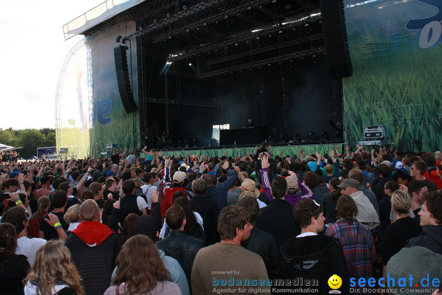
[[[132,92],[131,81],[129,80],[129,68],[127,66],[126,51],[127,46],[117,46],[113,48],[115,58],[115,70],[117,75],[118,90],[120,91],[121,102],[126,113],[133,113],[138,110],[135,103],[134,93]]]

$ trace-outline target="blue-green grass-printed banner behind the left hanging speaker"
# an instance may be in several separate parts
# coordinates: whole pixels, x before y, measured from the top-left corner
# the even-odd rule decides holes
[[[91,154],[94,156],[106,152],[108,144],[116,145],[120,152],[128,148],[128,153],[139,145],[139,111],[128,114],[123,107],[118,91],[113,54],[113,48],[120,45],[115,42],[115,38],[134,32],[134,22],[120,23],[86,38],[92,65],[93,126],[90,131],[90,145]],[[138,102],[137,43],[132,40],[132,42],[127,41],[125,45],[129,47],[127,51],[129,78],[135,101]]]

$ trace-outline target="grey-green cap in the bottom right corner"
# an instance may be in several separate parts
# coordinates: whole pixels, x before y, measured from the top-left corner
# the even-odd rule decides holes
[[[413,276],[413,283],[418,283],[416,288],[397,288],[398,292],[394,293],[396,295],[416,294],[416,289],[421,291],[419,294],[430,294],[430,289],[436,289],[436,287],[432,286],[432,280],[442,277],[442,255],[421,246],[402,248],[401,251],[388,261],[387,273],[396,282],[399,278]],[[420,282],[422,279],[425,279],[425,282],[427,275],[429,278],[428,284],[427,287],[423,287]]]

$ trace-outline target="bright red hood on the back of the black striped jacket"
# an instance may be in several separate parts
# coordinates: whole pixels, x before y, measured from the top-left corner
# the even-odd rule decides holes
[[[101,244],[114,232],[107,225],[98,221],[83,221],[72,233],[81,238],[88,246],[94,247]]]

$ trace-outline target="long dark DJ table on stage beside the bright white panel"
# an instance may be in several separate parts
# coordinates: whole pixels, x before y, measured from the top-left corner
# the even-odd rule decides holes
[[[267,126],[220,130],[220,146],[256,145],[267,139]]]

